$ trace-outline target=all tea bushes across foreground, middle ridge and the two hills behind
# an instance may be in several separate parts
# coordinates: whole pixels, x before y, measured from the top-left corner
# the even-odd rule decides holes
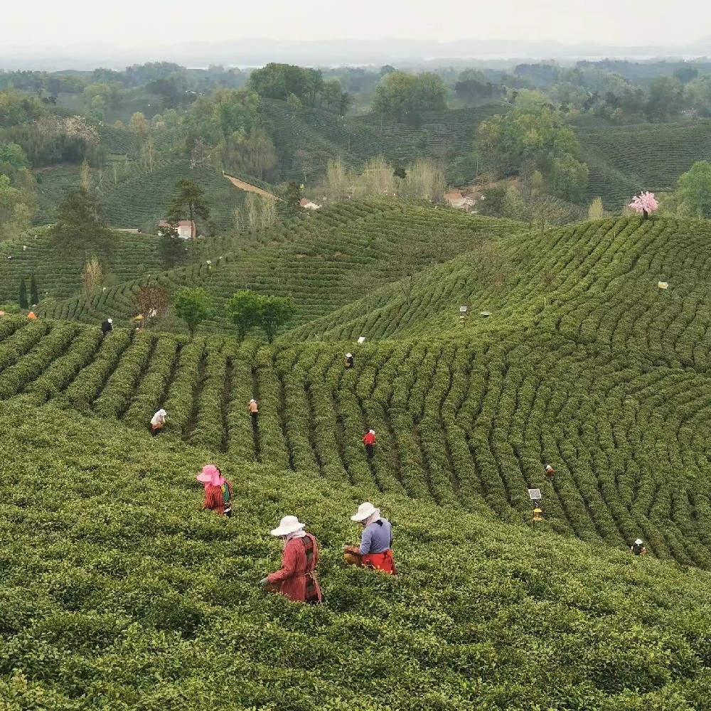
[[[353,201],[151,267],[213,296],[194,338],[102,337],[138,268],[4,316],[0,710],[710,708],[710,245],[702,220]],[[232,336],[244,287],[294,298],[274,343]],[[208,461],[231,520],[200,510]],[[341,560],[365,499],[395,578]],[[287,513],[321,543],[318,609],[257,585]]]

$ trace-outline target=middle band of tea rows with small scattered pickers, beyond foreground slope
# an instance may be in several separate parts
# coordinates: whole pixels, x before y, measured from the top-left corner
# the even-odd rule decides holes
[[[530,518],[658,557],[711,564],[711,380],[539,329],[476,341],[241,346],[230,338],[1,322],[0,397],[52,400],[163,437],[350,483],[364,495]],[[252,431],[246,403],[260,401]],[[360,437],[378,432],[371,464]],[[552,486],[542,464],[557,470]]]

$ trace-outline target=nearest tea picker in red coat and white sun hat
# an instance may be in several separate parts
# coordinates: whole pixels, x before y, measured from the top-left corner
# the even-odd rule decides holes
[[[277,528],[269,532],[284,541],[282,567],[262,578],[260,586],[279,592],[293,602],[315,605],[323,602],[314,572],[319,564],[319,544],[305,528],[306,524],[296,516],[284,516]]]

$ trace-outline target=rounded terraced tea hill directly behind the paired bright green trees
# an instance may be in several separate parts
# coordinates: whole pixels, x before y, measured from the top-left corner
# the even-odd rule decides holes
[[[213,330],[230,328],[225,300],[243,288],[292,296],[297,306],[294,324],[299,324],[519,228],[508,220],[475,218],[443,208],[417,208],[392,200],[348,201],[266,230],[264,244],[255,249],[217,253],[209,264],[203,260],[153,274],[151,279],[171,292],[183,285],[208,289],[215,315],[205,325]],[[42,313],[95,321],[110,311],[127,322],[134,316],[127,294],[135,285],[107,289],[88,307],[84,299],[76,298]]]

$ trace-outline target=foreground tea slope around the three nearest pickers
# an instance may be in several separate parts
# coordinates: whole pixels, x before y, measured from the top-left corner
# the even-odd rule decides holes
[[[199,510],[209,451],[21,403],[0,432],[10,710],[707,706],[705,572],[380,496],[390,579],[341,562],[355,488],[218,456],[225,520]],[[257,587],[287,512],[321,543],[321,608]]]

